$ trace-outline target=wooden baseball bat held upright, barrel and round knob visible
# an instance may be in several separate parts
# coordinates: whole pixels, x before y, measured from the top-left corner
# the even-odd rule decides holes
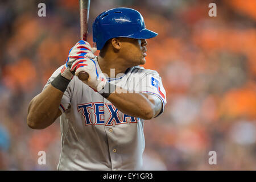
[[[89,10],[90,10],[90,0],[79,0],[80,38],[85,41],[87,41],[87,37],[88,37]],[[89,75],[86,72],[80,72],[78,77],[80,80],[88,80]]]

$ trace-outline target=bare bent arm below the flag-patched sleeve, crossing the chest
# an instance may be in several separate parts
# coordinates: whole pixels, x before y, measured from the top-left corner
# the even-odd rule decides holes
[[[109,95],[108,100],[122,113],[142,119],[155,117],[162,107],[162,103],[159,105],[159,102],[149,100],[146,94],[128,93],[126,89],[118,86],[115,92]]]

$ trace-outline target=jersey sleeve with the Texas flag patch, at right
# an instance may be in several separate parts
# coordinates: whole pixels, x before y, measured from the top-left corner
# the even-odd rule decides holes
[[[154,94],[160,98],[163,107],[156,117],[162,114],[164,111],[164,106],[166,105],[166,90],[163,87],[162,78],[159,76],[158,72],[148,72],[146,75],[139,78],[139,85],[137,86],[137,90],[138,89],[141,93]]]

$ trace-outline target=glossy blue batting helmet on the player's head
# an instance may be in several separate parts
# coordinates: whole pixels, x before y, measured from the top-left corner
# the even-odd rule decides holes
[[[130,8],[118,7],[104,11],[93,22],[93,42],[98,50],[112,38],[150,39],[156,35],[146,29],[141,13]]]

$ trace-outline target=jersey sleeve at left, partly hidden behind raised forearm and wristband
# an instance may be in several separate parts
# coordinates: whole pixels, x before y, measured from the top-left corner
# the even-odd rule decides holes
[[[63,67],[63,65],[56,69],[56,71],[52,74],[52,76],[48,79],[46,85],[44,86],[43,90],[47,88],[47,86],[49,84],[51,84],[52,80],[58,76],[60,74],[60,70]],[[71,96],[72,96],[72,80],[71,82],[69,82],[68,88],[65,90],[63,97],[61,98],[61,102],[60,102],[60,106],[59,109],[61,111],[61,113],[64,113],[65,110],[67,110],[69,108],[69,106],[71,105]]]

